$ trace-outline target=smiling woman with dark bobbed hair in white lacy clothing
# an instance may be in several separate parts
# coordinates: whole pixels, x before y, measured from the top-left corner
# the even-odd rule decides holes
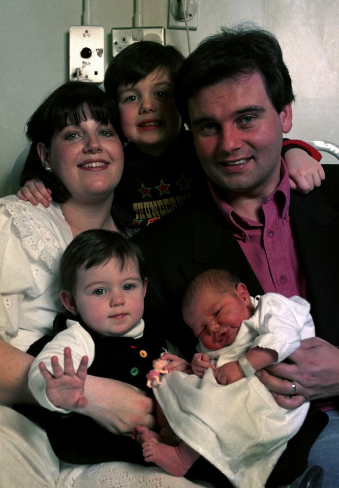
[[[25,351],[51,332],[61,310],[59,258],[84,230],[118,230],[110,209],[123,169],[117,111],[96,85],[71,82],[57,88],[28,121],[27,137],[23,175],[42,179],[54,203],[46,209],[14,195],[0,199],[0,403],[6,405],[34,403],[27,388],[33,357]],[[152,403],[136,388],[89,376],[86,394],[89,406],[82,413],[112,432],[129,434],[134,423],[153,426]],[[0,406],[1,487],[66,486],[67,476],[74,481],[83,471],[59,466],[45,432]],[[98,480],[81,485],[97,486]]]

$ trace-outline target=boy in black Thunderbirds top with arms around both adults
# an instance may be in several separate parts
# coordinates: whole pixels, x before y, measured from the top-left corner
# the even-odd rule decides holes
[[[129,234],[169,214],[205,188],[206,175],[192,134],[182,126],[174,101],[175,76],[182,60],[183,55],[173,46],[142,41],[118,53],[105,74],[106,93],[118,105],[121,128],[129,140],[112,207],[115,220]],[[284,142],[284,151],[296,147],[291,142],[297,141]],[[321,159],[308,144],[298,144],[317,161]],[[303,191],[320,185],[322,167],[305,151],[291,149],[284,158],[292,188],[298,186]],[[18,196],[45,206],[51,200],[39,182],[28,184],[28,188],[26,184]]]

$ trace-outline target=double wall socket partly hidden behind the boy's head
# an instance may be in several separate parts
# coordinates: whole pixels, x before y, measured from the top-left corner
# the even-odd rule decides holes
[[[164,27],[120,27],[112,29],[112,55],[139,41],[155,41],[165,44]]]

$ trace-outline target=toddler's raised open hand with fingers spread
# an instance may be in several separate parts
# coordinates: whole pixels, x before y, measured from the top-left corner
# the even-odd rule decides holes
[[[46,394],[48,400],[55,406],[65,410],[84,408],[88,402],[84,395],[85,379],[87,376],[88,357],[81,358],[78,371],[74,371],[72,352],[69,347],[64,350],[63,371],[57,356],[52,356],[50,373],[45,363],[39,363],[39,370],[46,381]]]

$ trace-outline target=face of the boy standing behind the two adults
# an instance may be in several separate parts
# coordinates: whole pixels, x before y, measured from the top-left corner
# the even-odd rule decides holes
[[[143,153],[163,154],[181,127],[167,71],[153,71],[134,86],[120,85],[117,98],[125,136]]]

